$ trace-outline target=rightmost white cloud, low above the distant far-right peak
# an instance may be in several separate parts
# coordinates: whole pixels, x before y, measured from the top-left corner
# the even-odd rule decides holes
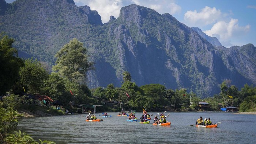
[[[230,22],[219,21],[215,23],[211,30],[204,31],[209,36],[217,37],[223,46],[231,44],[230,39],[240,37],[249,32],[251,26],[248,24],[245,27],[238,25],[238,19],[231,19]]]

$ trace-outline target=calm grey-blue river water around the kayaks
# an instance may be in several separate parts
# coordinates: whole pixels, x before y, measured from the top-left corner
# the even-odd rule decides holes
[[[154,114],[161,112],[151,112]],[[100,122],[86,122],[87,114],[22,118],[18,129],[35,140],[52,140],[57,144],[84,143],[219,143],[255,144],[256,115],[233,114],[229,112],[166,112],[171,126],[154,126],[128,122],[127,117],[108,113],[112,117]],[[140,117],[142,112],[136,112]],[[152,118],[154,116],[151,116]],[[213,123],[222,122],[218,128],[196,128],[189,125],[196,120],[211,118]],[[153,122],[153,120],[150,120]]]

